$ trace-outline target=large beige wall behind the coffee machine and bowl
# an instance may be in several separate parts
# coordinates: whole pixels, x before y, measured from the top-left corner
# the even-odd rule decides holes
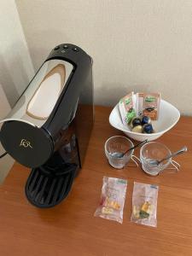
[[[126,92],[161,91],[192,114],[191,0],[16,0],[37,70],[56,44],[94,60],[97,104]]]

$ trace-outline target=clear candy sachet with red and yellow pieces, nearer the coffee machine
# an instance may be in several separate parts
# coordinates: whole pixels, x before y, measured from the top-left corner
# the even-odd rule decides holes
[[[102,195],[94,216],[123,223],[123,210],[127,181],[116,177],[103,177]]]

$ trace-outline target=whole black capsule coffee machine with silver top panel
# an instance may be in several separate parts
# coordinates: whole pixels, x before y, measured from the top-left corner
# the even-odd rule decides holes
[[[83,164],[93,110],[90,56],[73,44],[56,46],[1,121],[3,148],[32,168],[26,197],[34,206],[54,207],[68,195]]]

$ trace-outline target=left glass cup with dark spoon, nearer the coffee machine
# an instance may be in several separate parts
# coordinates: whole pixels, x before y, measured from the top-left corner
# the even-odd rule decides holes
[[[140,160],[137,158],[137,156],[133,155],[134,149],[128,151],[123,157],[117,157],[115,155],[117,153],[125,153],[127,149],[133,146],[133,143],[127,137],[109,137],[105,143],[105,154],[108,158],[109,164],[116,169],[122,169],[128,164],[129,160],[132,160],[135,165],[138,166],[137,161],[140,162]]]

